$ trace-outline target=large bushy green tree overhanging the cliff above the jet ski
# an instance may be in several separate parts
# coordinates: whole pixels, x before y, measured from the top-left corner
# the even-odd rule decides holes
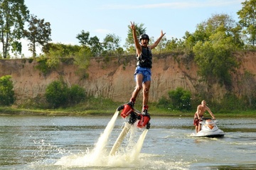
[[[195,62],[199,67],[198,74],[208,84],[218,82],[230,89],[230,73],[235,72],[235,68],[239,66],[231,53],[234,46],[233,38],[220,29],[217,33],[210,35],[208,41],[199,41],[193,47]]]

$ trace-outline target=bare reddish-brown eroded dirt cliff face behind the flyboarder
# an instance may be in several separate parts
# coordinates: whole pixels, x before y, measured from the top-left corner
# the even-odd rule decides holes
[[[237,93],[240,90],[240,78],[245,71],[256,74],[256,52],[242,52],[235,54],[241,62],[240,69],[233,74],[233,89]],[[180,56],[181,57],[181,56]],[[171,55],[167,57],[155,57],[152,68],[152,81],[149,101],[158,101],[161,96],[167,96],[168,91],[182,87],[192,94],[198,89],[205,89],[203,82],[199,81],[197,74],[198,67],[194,62],[184,64],[177,62]],[[114,101],[127,102],[134,90],[134,69],[135,58],[131,57],[129,64],[118,64],[117,59],[110,62],[103,62],[99,58],[90,61],[90,67],[87,69],[89,77],[81,79],[76,74],[77,68],[74,64],[60,63],[58,69],[50,72],[47,76],[36,69],[38,63],[36,60],[28,62],[25,59],[18,60],[0,60],[0,77],[11,75],[14,82],[14,91],[16,94],[16,103],[21,103],[28,98],[35,98],[43,95],[46,86],[54,80],[62,77],[69,86],[78,84],[85,88],[87,95],[103,96],[112,98]],[[213,84],[210,90],[215,97],[221,97],[225,94],[225,88],[218,84]],[[142,95],[139,96],[142,98]]]

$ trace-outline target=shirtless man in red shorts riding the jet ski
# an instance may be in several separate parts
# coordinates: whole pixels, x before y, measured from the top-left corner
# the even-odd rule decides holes
[[[198,105],[196,113],[194,115],[193,124],[196,126],[196,132],[199,132],[201,130],[201,124],[199,122],[203,120],[203,114],[206,111],[208,111],[208,113],[210,113],[211,117],[213,119],[215,119],[213,113],[210,111],[210,108],[208,108],[208,106],[206,106],[206,101],[203,100],[201,102],[201,105]]]

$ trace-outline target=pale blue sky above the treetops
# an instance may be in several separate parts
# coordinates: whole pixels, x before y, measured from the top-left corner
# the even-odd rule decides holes
[[[102,42],[107,34],[121,38],[123,46],[130,22],[144,24],[149,37],[167,40],[193,33],[198,23],[214,14],[228,14],[238,21],[237,12],[245,0],[25,0],[34,16],[50,22],[52,42],[79,45],[75,38],[82,30]],[[39,49],[40,50],[40,49]],[[37,53],[40,51],[37,50]],[[30,57],[26,42],[23,54]]]

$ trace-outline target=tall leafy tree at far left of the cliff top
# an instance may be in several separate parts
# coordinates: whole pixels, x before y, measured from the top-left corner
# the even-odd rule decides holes
[[[29,18],[24,0],[0,0],[0,39],[3,57],[8,56],[10,46],[23,35],[23,26]]]

